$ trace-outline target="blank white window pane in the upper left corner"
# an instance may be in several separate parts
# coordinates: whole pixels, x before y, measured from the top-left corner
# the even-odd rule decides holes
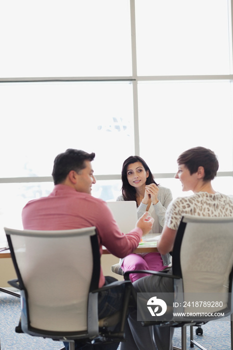
[[[0,77],[131,75],[129,0],[9,0],[0,13]]]

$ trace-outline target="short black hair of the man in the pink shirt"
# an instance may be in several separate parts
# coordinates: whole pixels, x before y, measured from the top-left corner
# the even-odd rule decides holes
[[[80,149],[68,148],[65,152],[58,154],[53,163],[52,177],[54,184],[65,180],[69,171],[74,170],[77,173],[85,168],[85,160],[92,161],[95,153],[87,153]]]

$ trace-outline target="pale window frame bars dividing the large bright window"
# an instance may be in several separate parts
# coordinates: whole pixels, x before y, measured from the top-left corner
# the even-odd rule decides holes
[[[135,25],[135,1],[130,0],[130,26],[131,26],[131,57],[132,57],[132,75],[131,76],[92,76],[92,77],[22,77],[22,78],[0,78],[0,83],[14,83],[14,82],[60,82],[60,81],[129,81],[132,83],[133,90],[133,120],[134,120],[134,153],[140,155],[139,146],[139,122],[138,122],[138,94],[137,83],[139,81],[230,81],[233,82],[233,0],[228,0],[228,23],[229,23],[229,51],[230,51],[230,74],[226,75],[169,75],[169,76],[139,76],[137,75],[136,63],[136,25]],[[232,94],[233,97],[233,94]],[[233,98],[232,98],[233,102]],[[233,104],[233,103],[232,103]],[[231,115],[233,120],[233,115]],[[171,178],[174,176],[173,172],[169,173],[153,173],[155,178]],[[220,171],[217,176],[233,177],[232,171]],[[120,173],[111,175],[96,175],[97,180],[118,180]],[[28,176],[28,177],[1,177],[0,183],[18,183],[18,182],[51,182],[52,176]]]

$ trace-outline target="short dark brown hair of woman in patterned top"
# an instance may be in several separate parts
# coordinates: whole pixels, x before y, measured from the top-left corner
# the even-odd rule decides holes
[[[177,163],[184,164],[190,175],[197,172],[199,166],[204,168],[204,181],[212,180],[218,170],[218,160],[214,152],[204,147],[194,147],[185,150],[178,156]]]

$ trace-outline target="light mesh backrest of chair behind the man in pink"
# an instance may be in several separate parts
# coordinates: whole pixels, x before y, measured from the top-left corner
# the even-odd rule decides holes
[[[4,229],[25,294],[21,302],[26,303],[22,310],[27,317],[24,320],[21,314],[22,330],[28,327],[70,334],[87,331],[90,319],[97,324],[97,310],[87,310],[88,292],[98,288],[100,271],[95,227]],[[93,330],[96,332],[98,328]]]

